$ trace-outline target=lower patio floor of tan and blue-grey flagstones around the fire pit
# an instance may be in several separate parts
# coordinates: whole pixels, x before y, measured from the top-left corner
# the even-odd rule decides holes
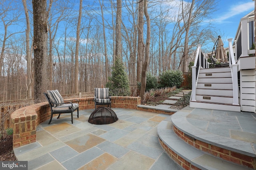
[[[36,142],[14,149],[29,170],[181,170],[158,142],[157,125],[170,115],[113,108],[118,121],[92,125],[94,109],[54,117],[36,129]],[[74,113],[76,114],[76,112]]]

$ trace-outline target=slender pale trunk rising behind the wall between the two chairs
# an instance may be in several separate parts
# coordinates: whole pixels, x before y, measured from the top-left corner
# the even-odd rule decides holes
[[[78,93],[78,55],[79,55],[79,45],[80,45],[80,25],[81,25],[81,18],[82,18],[82,2],[83,0],[80,0],[80,6],[79,6],[79,16],[78,16],[78,23],[77,23],[77,29],[76,29],[76,53],[75,53],[75,80],[74,80],[74,90],[75,93]]]

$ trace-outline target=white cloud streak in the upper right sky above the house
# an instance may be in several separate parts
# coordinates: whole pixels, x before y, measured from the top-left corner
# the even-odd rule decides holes
[[[231,18],[238,14],[242,14],[246,11],[252,11],[253,9],[254,9],[254,2],[246,2],[244,4],[231,6],[230,10],[227,13],[224,13],[224,15],[222,15],[220,18],[216,18],[215,21],[223,22],[225,20],[228,20],[228,18]]]

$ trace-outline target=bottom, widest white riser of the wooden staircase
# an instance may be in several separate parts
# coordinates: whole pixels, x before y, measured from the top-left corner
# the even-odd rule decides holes
[[[190,102],[190,107],[215,110],[241,111],[240,106]]]

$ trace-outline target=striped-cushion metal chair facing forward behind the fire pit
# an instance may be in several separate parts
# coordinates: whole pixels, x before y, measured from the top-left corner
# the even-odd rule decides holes
[[[94,102],[96,105],[108,105],[111,108],[111,96],[108,95],[108,88],[94,88]]]

